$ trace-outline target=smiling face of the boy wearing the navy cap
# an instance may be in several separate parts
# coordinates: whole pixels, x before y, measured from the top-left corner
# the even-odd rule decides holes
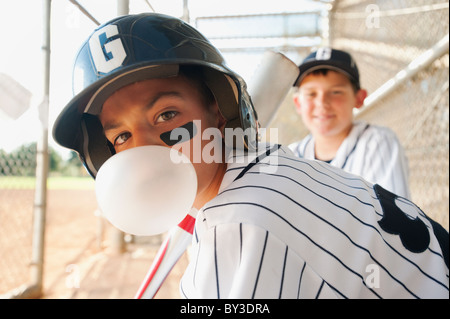
[[[337,137],[350,132],[353,109],[360,108],[366,96],[365,90],[355,93],[347,76],[329,70],[326,75],[307,75],[294,102],[297,113],[314,136]]]

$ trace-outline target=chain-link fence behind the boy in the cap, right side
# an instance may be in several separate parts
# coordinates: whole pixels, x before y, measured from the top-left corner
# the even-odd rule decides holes
[[[353,55],[361,85],[369,95],[386,83],[398,82],[392,92],[374,100],[356,117],[396,132],[409,160],[413,201],[447,230],[448,33],[448,1],[336,0],[329,11],[329,39],[324,39],[324,45],[328,43]],[[436,44],[442,42],[444,53],[429,59]],[[429,63],[423,68],[410,72],[426,59]],[[308,133],[294,111],[291,97],[272,126],[279,127],[283,143]]]

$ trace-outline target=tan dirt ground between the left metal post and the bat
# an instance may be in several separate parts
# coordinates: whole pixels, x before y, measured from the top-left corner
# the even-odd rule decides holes
[[[98,215],[93,190],[48,191],[42,298],[134,298],[164,236],[127,236],[118,253],[115,229]],[[155,298],[179,298],[186,265],[184,255]]]

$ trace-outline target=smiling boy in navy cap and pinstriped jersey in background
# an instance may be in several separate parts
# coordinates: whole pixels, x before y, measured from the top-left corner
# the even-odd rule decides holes
[[[320,48],[299,69],[294,102],[310,134],[289,145],[294,154],[328,162],[410,199],[408,162],[395,133],[353,119],[367,91],[360,87],[352,56]]]

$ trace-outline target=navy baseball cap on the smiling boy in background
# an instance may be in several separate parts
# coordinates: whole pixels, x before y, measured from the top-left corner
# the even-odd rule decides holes
[[[299,69],[300,74],[295,81],[294,86],[298,86],[305,76],[315,70],[329,69],[344,73],[357,84],[358,88],[360,87],[359,71],[356,62],[353,60],[352,56],[345,51],[328,47],[320,48],[308,55],[299,65]]]

